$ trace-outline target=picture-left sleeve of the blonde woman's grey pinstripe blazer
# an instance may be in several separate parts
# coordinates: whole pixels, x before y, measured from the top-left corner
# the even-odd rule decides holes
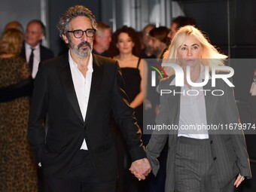
[[[163,81],[160,81],[160,90],[162,89],[162,87]],[[166,96],[160,96],[160,111],[159,114],[157,114],[156,125],[169,124],[168,116],[166,115],[168,114],[166,106]],[[147,157],[149,162],[151,163],[151,169],[154,175],[157,175],[160,166],[157,157],[160,156],[163,147],[166,145],[167,137],[168,133],[164,133],[163,130],[161,130],[161,133],[159,133],[158,130],[154,130],[154,132],[151,135],[151,139],[146,147]]]

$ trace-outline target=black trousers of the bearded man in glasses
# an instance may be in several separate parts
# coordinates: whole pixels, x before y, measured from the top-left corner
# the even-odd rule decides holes
[[[46,176],[48,192],[114,192],[115,181],[100,181],[88,151],[79,151],[64,178]]]

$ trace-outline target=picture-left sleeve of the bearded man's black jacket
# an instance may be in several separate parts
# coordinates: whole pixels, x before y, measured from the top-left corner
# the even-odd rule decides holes
[[[42,65],[39,65],[34,82],[34,90],[29,111],[29,144],[37,163],[41,162],[41,152],[45,147],[44,120],[47,113],[47,81]]]

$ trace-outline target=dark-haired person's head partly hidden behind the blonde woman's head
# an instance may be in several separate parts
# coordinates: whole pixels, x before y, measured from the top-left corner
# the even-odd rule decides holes
[[[171,29],[169,30],[168,37],[172,41],[172,38],[178,32],[178,29],[181,28],[181,26],[196,26],[196,20],[192,17],[184,17],[184,16],[178,16],[174,20],[172,20]]]

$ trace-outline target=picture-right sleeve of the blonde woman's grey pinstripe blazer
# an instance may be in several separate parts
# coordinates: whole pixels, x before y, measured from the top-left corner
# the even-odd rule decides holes
[[[236,102],[234,99],[233,89],[226,84],[225,88],[225,114],[227,124],[233,125],[233,123],[240,123],[239,113],[237,111]],[[236,153],[236,164],[239,167],[239,173],[242,176],[251,178],[251,168],[249,157],[247,153],[245,136],[242,130],[230,130],[233,133],[230,134],[233,143],[233,149]]]

